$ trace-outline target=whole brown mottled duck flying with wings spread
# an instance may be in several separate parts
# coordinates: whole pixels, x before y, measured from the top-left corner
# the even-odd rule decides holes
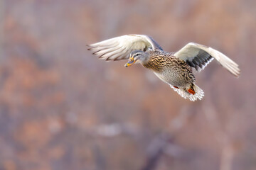
[[[169,84],[183,98],[201,100],[204,92],[196,85],[196,72],[201,72],[214,59],[235,77],[240,76],[238,64],[222,52],[189,42],[177,52],[166,52],[149,35],[129,34],[87,45],[92,55],[106,61],[128,60],[124,67],[142,64]]]

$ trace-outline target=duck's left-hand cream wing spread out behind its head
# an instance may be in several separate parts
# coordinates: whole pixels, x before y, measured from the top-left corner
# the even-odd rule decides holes
[[[93,55],[105,60],[128,59],[134,50],[162,50],[160,45],[148,35],[122,35],[92,45],[88,45]]]

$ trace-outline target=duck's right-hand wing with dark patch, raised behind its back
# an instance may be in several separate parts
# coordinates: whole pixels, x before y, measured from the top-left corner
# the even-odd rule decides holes
[[[209,62],[215,59],[236,77],[240,75],[238,64],[218,50],[214,50],[213,48],[205,45],[190,42],[174,55],[199,71],[204,69]]]

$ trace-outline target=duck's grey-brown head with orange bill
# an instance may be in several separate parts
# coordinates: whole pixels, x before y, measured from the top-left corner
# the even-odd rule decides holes
[[[124,65],[124,67],[129,67],[134,63],[143,63],[146,62],[148,58],[147,52],[141,51],[141,50],[135,50],[130,53],[129,61],[127,64]]]

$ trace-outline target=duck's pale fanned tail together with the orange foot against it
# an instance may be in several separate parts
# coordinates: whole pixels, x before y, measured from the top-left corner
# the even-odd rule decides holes
[[[176,86],[171,86],[171,88],[177,91],[181,97],[189,98],[191,101],[201,100],[204,96],[203,90],[196,86],[196,84],[191,84],[188,88],[178,88]]]

